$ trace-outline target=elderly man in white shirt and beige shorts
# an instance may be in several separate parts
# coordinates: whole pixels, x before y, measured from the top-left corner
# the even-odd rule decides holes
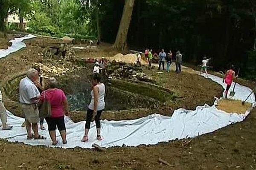
[[[37,102],[40,92],[35,86],[38,79],[38,71],[31,68],[26,77],[20,80],[20,103],[26,119],[27,139],[46,139],[38,133],[39,111]],[[35,135],[31,133],[31,126]]]

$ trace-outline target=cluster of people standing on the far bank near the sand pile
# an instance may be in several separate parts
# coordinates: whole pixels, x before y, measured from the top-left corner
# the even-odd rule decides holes
[[[158,70],[161,69],[161,66],[162,66],[163,70],[165,70],[165,61],[166,61],[166,71],[170,72],[170,68],[171,68],[172,62],[174,60],[172,51],[170,50],[169,53],[167,53],[167,55],[166,55],[166,52],[164,51],[164,49],[162,49],[162,51],[159,54],[154,53],[154,55],[152,55],[152,53],[153,53],[152,49],[145,50],[145,57],[148,59],[148,67],[151,68],[152,59],[154,57],[157,57],[157,58],[159,58]],[[180,54],[180,51],[177,51],[176,56],[175,56],[175,65],[176,65],[176,73],[177,74],[181,73],[182,59],[183,59],[182,54]]]

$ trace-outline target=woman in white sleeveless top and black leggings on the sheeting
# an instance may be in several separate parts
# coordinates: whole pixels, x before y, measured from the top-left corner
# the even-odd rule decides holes
[[[91,101],[87,108],[87,116],[86,116],[86,123],[85,123],[85,130],[84,130],[84,137],[82,142],[88,141],[88,132],[90,129],[90,122],[95,120],[96,129],[97,129],[97,139],[99,141],[102,140],[100,135],[100,116],[102,111],[105,109],[105,85],[100,82],[101,75],[100,74],[93,74],[93,90],[91,91]]]

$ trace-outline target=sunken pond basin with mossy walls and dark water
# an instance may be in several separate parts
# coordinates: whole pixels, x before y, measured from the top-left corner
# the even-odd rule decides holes
[[[76,65],[79,66],[78,69],[57,79],[59,88],[63,89],[67,95],[70,110],[86,111],[90,102],[90,73],[93,65],[84,64],[84,62],[77,62]],[[9,99],[17,102],[17,104],[19,82],[23,77],[25,74],[12,77],[4,87]],[[106,85],[106,111],[121,111],[132,108],[154,109],[166,100],[175,99],[174,94],[143,82],[131,82],[128,79],[108,81],[106,76],[103,76],[102,82]]]

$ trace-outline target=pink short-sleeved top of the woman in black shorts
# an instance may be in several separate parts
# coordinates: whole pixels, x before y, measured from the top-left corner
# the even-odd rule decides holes
[[[64,92],[60,89],[46,90],[43,91],[40,97],[40,101],[44,101],[45,98],[51,103],[52,116],[51,117],[61,117],[64,116],[64,106],[63,102],[67,99]]]

